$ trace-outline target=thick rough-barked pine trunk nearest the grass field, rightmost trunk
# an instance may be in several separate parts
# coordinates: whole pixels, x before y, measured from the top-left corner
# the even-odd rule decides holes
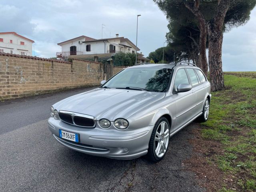
[[[225,88],[221,59],[223,34],[212,21],[208,23],[208,40],[211,88],[212,91],[218,91]]]

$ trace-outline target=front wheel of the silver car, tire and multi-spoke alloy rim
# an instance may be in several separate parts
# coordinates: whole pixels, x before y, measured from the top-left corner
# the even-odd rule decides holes
[[[148,144],[148,154],[150,161],[158,162],[162,160],[168,150],[170,138],[170,125],[165,117],[161,117],[155,124]]]

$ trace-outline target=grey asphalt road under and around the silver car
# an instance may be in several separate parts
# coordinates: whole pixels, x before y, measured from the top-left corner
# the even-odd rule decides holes
[[[50,106],[90,89],[0,103],[0,191],[205,191],[182,164],[191,156],[189,130],[196,124],[173,136],[156,164],[89,156],[55,141],[47,128]]]

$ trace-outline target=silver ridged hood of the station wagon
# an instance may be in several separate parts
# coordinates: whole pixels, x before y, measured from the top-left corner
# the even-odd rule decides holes
[[[97,88],[66,98],[53,105],[55,109],[106,118],[128,118],[142,108],[165,97],[165,93],[126,89]]]

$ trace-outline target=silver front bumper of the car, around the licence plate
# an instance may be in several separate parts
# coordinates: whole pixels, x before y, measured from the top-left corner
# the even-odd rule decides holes
[[[111,125],[103,129],[97,122],[95,128],[82,128],[50,117],[48,128],[58,142],[72,150],[114,159],[134,159],[147,154],[154,126],[118,130]],[[60,138],[59,129],[78,133],[79,143]]]

